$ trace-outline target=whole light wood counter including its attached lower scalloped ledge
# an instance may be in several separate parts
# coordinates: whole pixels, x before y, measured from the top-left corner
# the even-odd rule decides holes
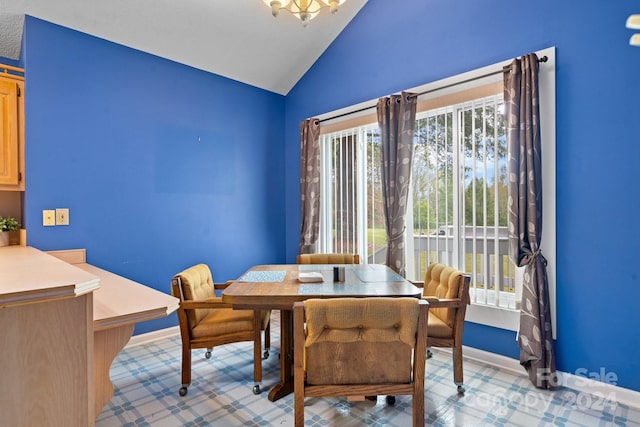
[[[0,248],[0,381],[11,390],[0,395],[3,422],[94,425],[135,323],[177,308],[171,295],[86,264],[83,249]]]

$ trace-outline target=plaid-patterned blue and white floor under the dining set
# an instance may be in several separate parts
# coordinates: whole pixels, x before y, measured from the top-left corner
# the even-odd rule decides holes
[[[115,359],[115,394],[99,415],[97,427],[112,426],[293,426],[293,395],[267,399],[279,376],[279,322],[274,312],[272,349],[263,361],[263,392],[254,395],[252,344],[217,347],[211,359],[193,353],[193,382],[185,397],[180,388],[179,336],[129,346]],[[571,389],[538,390],[527,376],[465,359],[464,396],[456,393],[450,353],[434,350],[427,361],[425,425],[434,426],[632,426],[640,427],[640,409]],[[411,401],[397,396],[389,406],[340,398],[307,398],[305,425],[385,426],[411,424]]]

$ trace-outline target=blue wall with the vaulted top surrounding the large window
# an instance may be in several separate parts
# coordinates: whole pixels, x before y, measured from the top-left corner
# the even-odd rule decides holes
[[[298,243],[301,120],[555,46],[557,366],[604,368],[640,391],[640,49],[624,27],[640,3],[401,3],[369,0],[287,95],[287,259]],[[464,344],[519,354],[514,333],[482,325],[465,328]]]

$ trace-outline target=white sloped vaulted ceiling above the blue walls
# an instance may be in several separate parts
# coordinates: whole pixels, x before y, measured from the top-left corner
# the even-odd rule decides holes
[[[285,95],[366,2],[304,28],[263,0],[0,0],[0,56],[18,59],[26,14]]]

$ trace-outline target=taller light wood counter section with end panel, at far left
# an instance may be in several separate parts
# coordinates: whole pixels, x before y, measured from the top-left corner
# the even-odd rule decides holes
[[[2,424],[92,426],[99,280],[34,248],[0,248]]]

